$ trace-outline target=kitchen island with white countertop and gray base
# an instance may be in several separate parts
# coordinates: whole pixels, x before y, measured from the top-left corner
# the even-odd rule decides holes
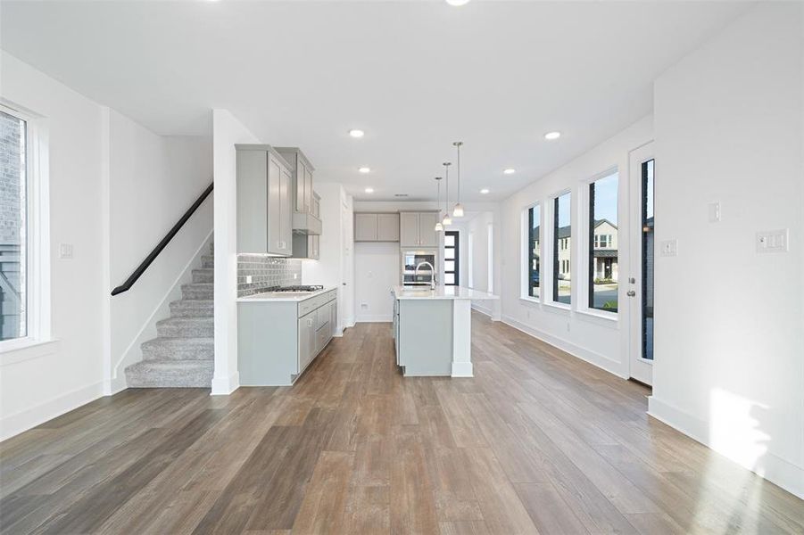
[[[405,376],[472,377],[472,301],[498,296],[462,286],[394,286],[394,350]]]

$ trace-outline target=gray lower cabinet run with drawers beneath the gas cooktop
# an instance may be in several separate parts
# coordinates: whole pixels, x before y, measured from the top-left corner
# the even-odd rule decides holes
[[[337,290],[303,301],[237,303],[240,384],[293,384],[335,333]],[[335,316],[334,316],[335,314]]]

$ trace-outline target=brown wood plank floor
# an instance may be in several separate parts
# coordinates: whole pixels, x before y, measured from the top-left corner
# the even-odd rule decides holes
[[[0,444],[2,532],[804,533],[804,502],[646,388],[473,329],[474,379],[404,379],[360,324],[294,387],[98,399]]]

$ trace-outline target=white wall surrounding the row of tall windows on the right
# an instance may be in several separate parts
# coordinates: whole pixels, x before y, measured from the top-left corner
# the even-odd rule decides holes
[[[617,167],[620,171],[618,219],[621,236],[619,266],[622,274],[624,267],[628,265],[627,240],[622,239],[622,236],[627,236],[629,228],[626,210],[628,154],[651,141],[652,136],[652,117],[645,117],[574,161],[510,196],[502,203],[500,212],[501,233],[498,242],[501,242],[502,255],[502,321],[621,377],[628,376],[628,303],[625,299],[625,287],[620,287],[620,307],[616,319],[585,314],[581,307],[584,299],[578,292],[579,284],[576,280],[573,281],[572,309],[551,306],[548,304],[549,296],[545,296],[542,303],[520,299],[522,273],[526,269],[522,261],[523,240],[526,240],[526,236],[522,233],[522,214],[526,207],[534,202],[541,202],[544,221],[546,203],[551,197],[563,190],[571,189],[573,234],[578,235],[577,229],[581,218],[579,210],[586,210],[578,206],[578,192],[582,187],[586,187],[586,180],[602,171]],[[544,226],[543,242],[546,241]],[[478,236],[476,240],[482,243],[483,238]],[[576,258],[576,249],[574,242],[572,264],[578,267],[581,264]],[[545,255],[543,258],[548,257]],[[542,268],[543,292],[546,292],[544,279],[549,273],[545,263],[546,260],[543,261]],[[626,276],[620,278],[625,280]]]

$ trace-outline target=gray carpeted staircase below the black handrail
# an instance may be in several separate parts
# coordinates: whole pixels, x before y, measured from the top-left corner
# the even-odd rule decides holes
[[[193,282],[156,322],[157,337],[142,344],[143,359],[126,368],[128,388],[210,388],[214,369],[212,300],[214,248],[193,269]]]

